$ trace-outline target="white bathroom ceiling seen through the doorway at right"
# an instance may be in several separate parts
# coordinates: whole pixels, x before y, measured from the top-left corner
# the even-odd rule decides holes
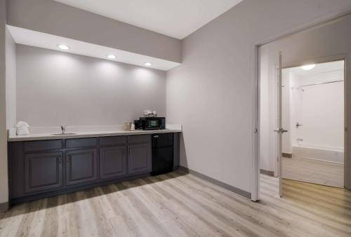
[[[314,74],[320,74],[323,72],[336,71],[343,68],[344,68],[344,61],[340,60],[340,61],[319,63],[316,65],[316,67],[307,71],[301,69],[301,67],[291,67],[284,70],[289,70],[290,72],[293,72],[294,74],[298,74],[299,76],[310,76]]]

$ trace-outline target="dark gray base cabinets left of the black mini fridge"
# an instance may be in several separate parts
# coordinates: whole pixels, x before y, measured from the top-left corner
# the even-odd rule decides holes
[[[21,203],[148,176],[151,137],[8,142],[10,201]]]

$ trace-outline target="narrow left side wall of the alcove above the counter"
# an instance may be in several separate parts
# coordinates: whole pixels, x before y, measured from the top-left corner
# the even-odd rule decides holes
[[[16,123],[16,45],[6,27],[6,127]]]

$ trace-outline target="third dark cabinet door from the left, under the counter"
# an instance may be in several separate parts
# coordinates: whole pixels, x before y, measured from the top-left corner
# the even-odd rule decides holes
[[[126,146],[100,149],[100,178],[120,177],[127,174]]]

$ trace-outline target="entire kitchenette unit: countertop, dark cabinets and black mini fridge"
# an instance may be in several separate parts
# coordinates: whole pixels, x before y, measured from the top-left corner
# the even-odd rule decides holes
[[[181,126],[67,128],[66,133],[75,134],[54,135],[57,127],[31,127],[26,136],[8,132],[11,203],[170,172],[180,165]]]

